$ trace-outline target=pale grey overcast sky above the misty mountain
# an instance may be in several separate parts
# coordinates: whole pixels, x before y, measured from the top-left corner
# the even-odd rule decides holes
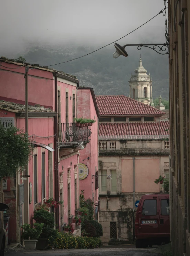
[[[163,0],[0,0],[0,54],[29,44],[103,46],[163,8]],[[164,43],[164,33],[160,14],[120,43]]]

